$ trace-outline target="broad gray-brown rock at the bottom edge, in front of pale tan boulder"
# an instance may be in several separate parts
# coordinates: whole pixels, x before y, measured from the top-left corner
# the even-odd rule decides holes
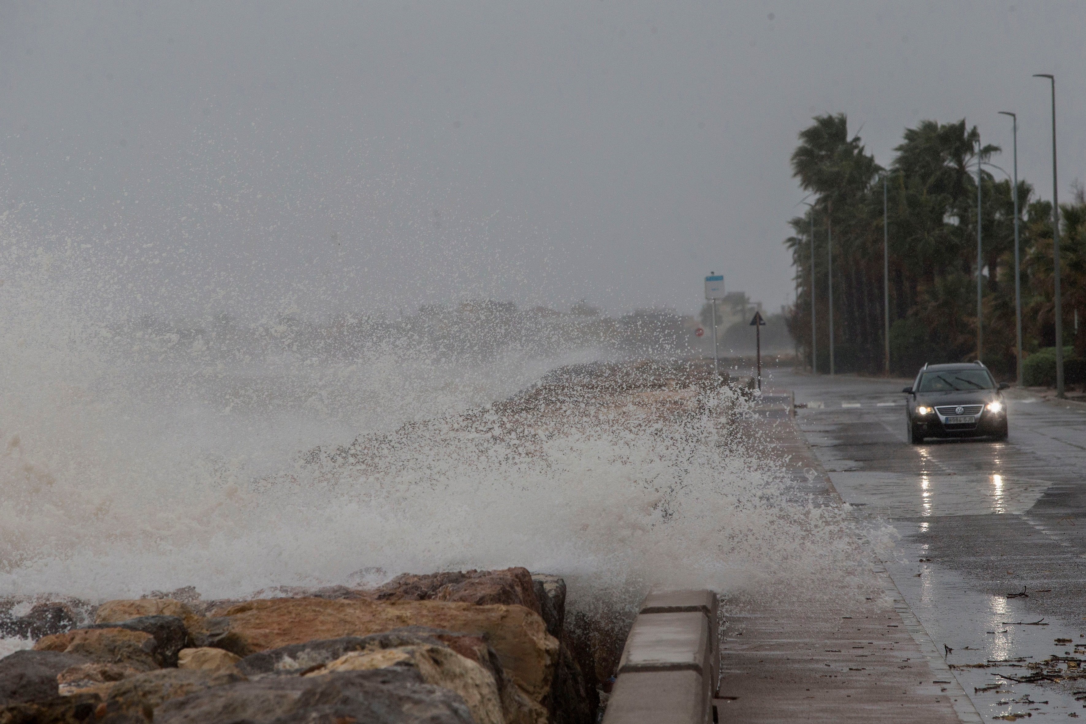
[[[417,671],[403,668],[240,682],[173,699],[154,712],[155,724],[340,721],[472,724],[460,697],[425,684]]]

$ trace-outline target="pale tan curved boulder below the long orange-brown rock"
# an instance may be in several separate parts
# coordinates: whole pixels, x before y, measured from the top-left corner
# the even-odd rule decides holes
[[[471,712],[475,724],[505,724],[502,700],[493,675],[445,646],[401,646],[374,651],[352,651],[317,666],[305,676],[389,666],[409,666],[427,684],[458,694]]]

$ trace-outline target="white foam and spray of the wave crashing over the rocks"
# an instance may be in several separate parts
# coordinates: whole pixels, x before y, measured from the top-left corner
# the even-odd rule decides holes
[[[842,513],[788,497],[779,461],[728,421],[745,405],[731,391],[670,417],[554,401],[570,423],[541,436],[494,415],[482,434],[457,414],[598,357],[592,341],[435,356],[384,336],[343,353],[258,323],[192,340],[121,325],[109,289],[26,256],[9,254],[0,288],[4,594],[222,597],[525,566],[621,597],[787,588],[856,564]],[[442,416],[334,459],[358,434]],[[319,465],[304,456],[317,446]]]

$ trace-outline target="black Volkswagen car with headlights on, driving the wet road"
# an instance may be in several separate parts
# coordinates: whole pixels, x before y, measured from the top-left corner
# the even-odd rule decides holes
[[[1007,440],[1007,403],[988,368],[981,363],[924,365],[917,381],[901,392],[909,442],[925,437],[978,437]]]

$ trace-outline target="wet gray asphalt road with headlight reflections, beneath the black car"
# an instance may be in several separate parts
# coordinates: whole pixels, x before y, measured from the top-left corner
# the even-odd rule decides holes
[[[909,445],[908,383],[772,380],[982,716],[1086,716],[1086,410],[1009,391],[1008,442]]]

